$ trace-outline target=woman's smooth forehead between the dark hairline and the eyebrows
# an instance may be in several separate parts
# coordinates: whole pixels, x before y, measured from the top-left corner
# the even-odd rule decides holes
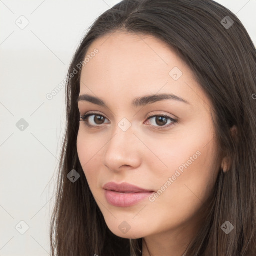
[[[139,95],[174,93],[187,101],[207,101],[193,72],[165,42],[150,36],[116,31],[96,39],[81,71],[80,94],[121,100]],[[173,71],[174,70],[174,71]],[[178,79],[173,78],[177,73]],[[189,99],[189,100],[188,100]]]

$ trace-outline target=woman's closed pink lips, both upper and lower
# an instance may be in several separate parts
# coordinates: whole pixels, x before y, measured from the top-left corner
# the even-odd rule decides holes
[[[154,193],[152,190],[140,188],[126,182],[121,184],[109,182],[103,186],[103,189],[105,189],[107,202],[117,207],[132,206]]]

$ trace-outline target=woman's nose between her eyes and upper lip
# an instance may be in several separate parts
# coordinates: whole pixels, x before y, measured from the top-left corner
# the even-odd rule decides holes
[[[132,126],[123,131],[116,125],[114,134],[105,145],[103,164],[115,172],[137,168],[141,164],[142,150],[142,142],[133,134]]]

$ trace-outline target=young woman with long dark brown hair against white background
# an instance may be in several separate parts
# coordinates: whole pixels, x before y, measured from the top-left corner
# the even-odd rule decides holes
[[[212,0],[123,0],[66,83],[52,255],[256,254],[256,53]]]

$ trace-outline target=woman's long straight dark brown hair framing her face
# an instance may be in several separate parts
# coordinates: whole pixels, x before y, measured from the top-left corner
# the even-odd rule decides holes
[[[228,16],[228,17],[226,17]],[[233,24],[232,24],[233,22]],[[76,139],[82,62],[91,43],[115,31],[152,35],[166,42],[193,71],[216,113],[219,153],[229,159],[219,171],[203,228],[186,256],[252,256],[256,253],[256,52],[240,20],[212,0],[123,0],[100,15],[81,41],[66,83],[67,126],[57,195],[51,218],[51,253],[58,256],[139,255],[142,238],[114,235],[89,189]],[[70,76],[73,70],[77,74]],[[231,127],[236,127],[232,136]],[[72,183],[67,174],[80,178]],[[227,235],[221,225],[234,229]]]

